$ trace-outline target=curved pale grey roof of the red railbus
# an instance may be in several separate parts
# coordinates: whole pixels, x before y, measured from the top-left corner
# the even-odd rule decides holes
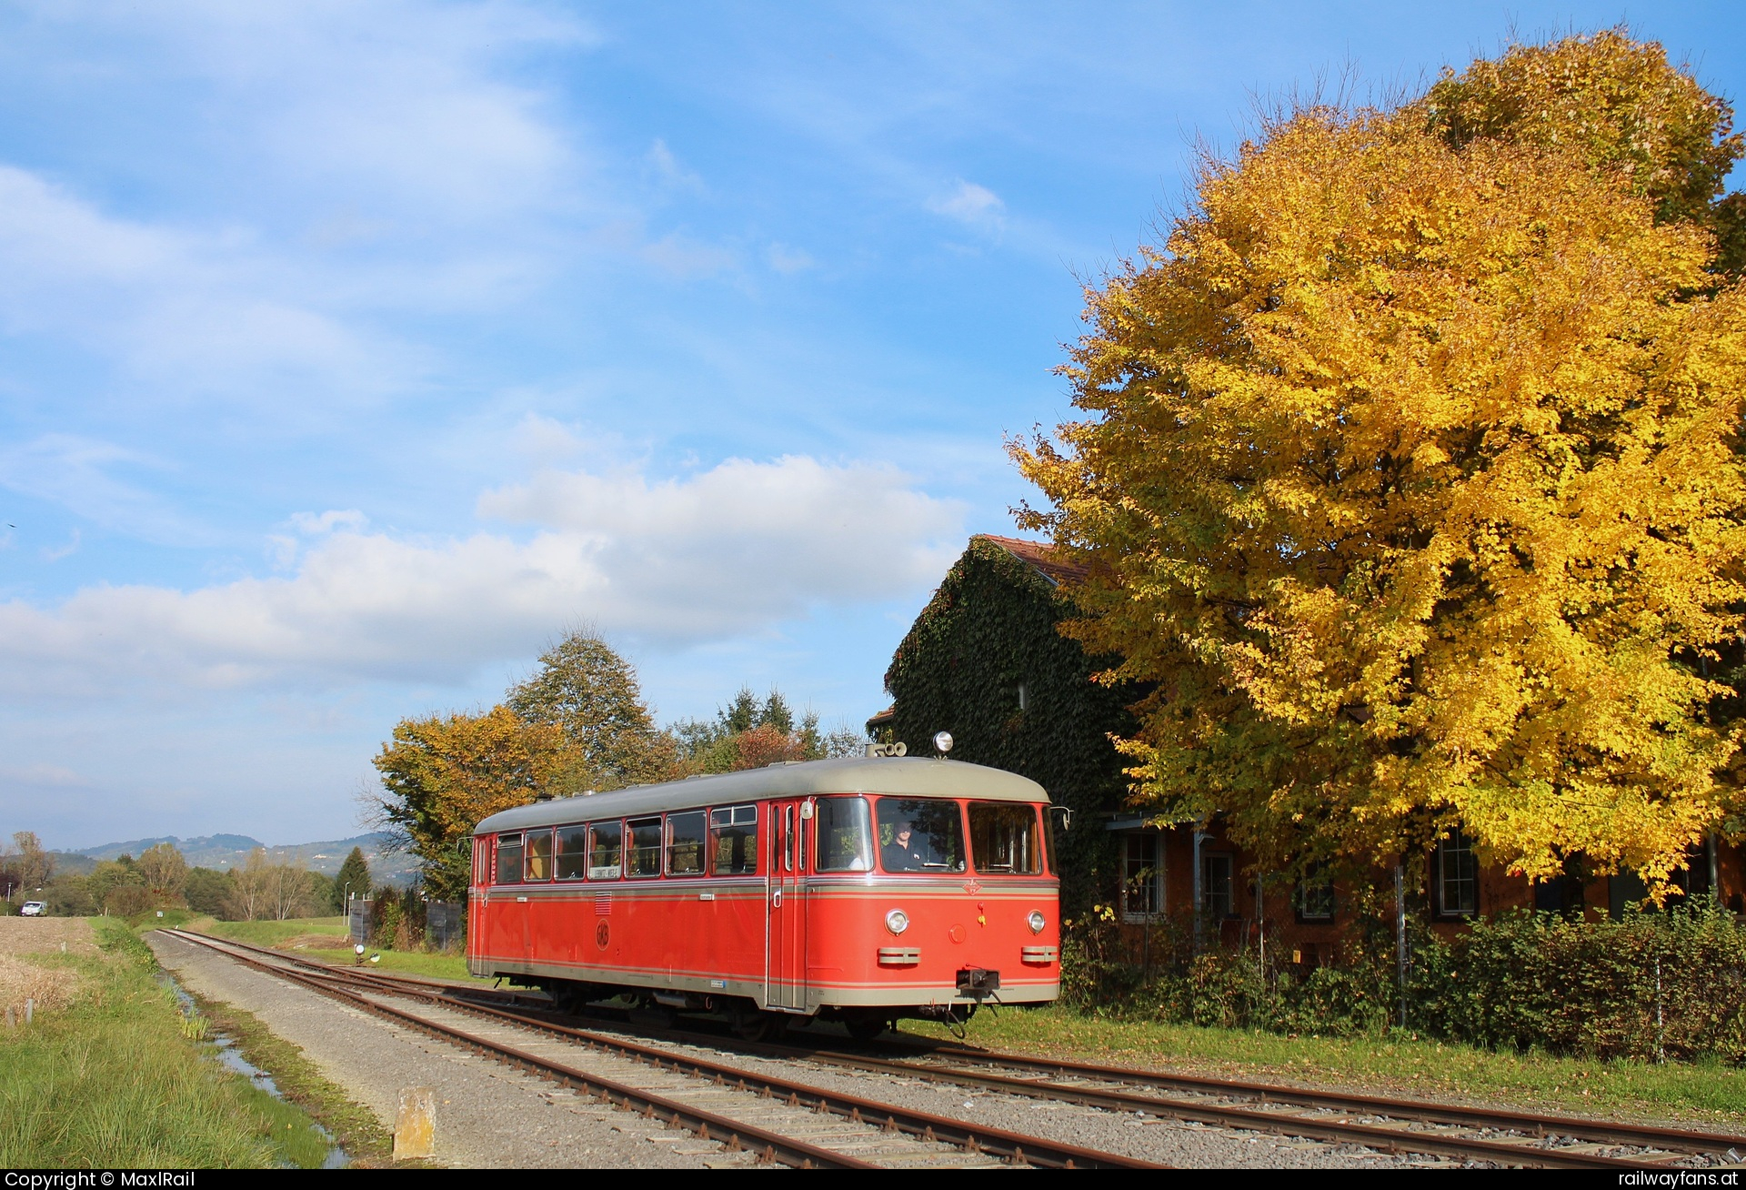
[[[492,814],[478,823],[473,834],[560,827],[594,818],[632,818],[672,809],[749,802],[760,797],[807,797],[808,793],[910,793],[913,797],[980,797],[993,802],[1049,800],[1041,785],[1006,769],[922,757],[850,757],[847,760],[773,764],[765,769],[663,781],[662,785],[634,785],[613,793],[559,797]]]

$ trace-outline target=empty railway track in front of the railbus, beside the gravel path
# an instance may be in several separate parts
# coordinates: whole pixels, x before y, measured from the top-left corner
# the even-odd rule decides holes
[[[1049,1169],[1161,1169],[1156,1162],[981,1127],[864,1096],[754,1073],[540,1017],[461,1000],[426,980],[311,963],[185,930],[162,933],[227,954],[253,970],[330,996],[475,1054],[496,1057],[602,1103],[695,1132],[730,1152],[801,1169],[1032,1166]],[[416,1000],[424,1012],[384,1003]],[[468,1017],[463,1027],[454,1017]],[[480,1022],[484,1019],[484,1022]],[[560,1038],[559,1045],[526,1040]],[[590,1050],[576,1061],[576,1047]],[[601,1061],[601,1059],[608,1061]],[[604,1071],[602,1071],[604,1068]],[[648,1071],[660,1083],[650,1087]],[[672,1075],[676,1078],[665,1078]],[[704,1106],[704,1104],[709,1106]]]

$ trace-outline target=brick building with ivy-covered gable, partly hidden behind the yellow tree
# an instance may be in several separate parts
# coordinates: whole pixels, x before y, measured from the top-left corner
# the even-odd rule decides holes
[[[925,755],[934,732],[948,730],[955,758],[1020,772],[1069,806],[1074,825],[1058,837],[1067,914],[1112,905],[1135,945],[1147,926],[1168,923],[1205,945],[1264,938],[1303,966],[1337,959],[1362,919],[1392,916],[1395,874],[1287,884],[1257,872],[1217,820],[1159,825],[1131,809],[1110,739],[1135,730],[1126,706],[1145,692],[1091,681],[1110,659],[1088,657],[1056,631],[1076,615],[1062,587],[1079,577],[1046,543],[973,536],[897,645],[885,673],[892,704],[868,720],[868,734]],[[1481,865],[1460,832],[1400,879],[1409,910],[1444,933],[1509,909],[1619,917],[1646,893],[1629,872],[1531,882]],[[1746,912],[1736,846],[1711,839],[1676,882]]]

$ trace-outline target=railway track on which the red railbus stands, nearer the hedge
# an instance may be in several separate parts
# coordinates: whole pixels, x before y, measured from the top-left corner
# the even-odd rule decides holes
[[[243,944],[225,944],[241,947]],[[581,1034],[543,1010],[545,996],[442,980],[332,968],[279,951],[246,947],[320,972],[337,972],[381,989],[412,989],[445,1003],[494,1007],[543,1029]],[[622,1024],[613,1024],[622,1029]],[[588,1034],[601,1036],[601,1034]],[[670,1043],[719,1048],[725,1038],[658,1031]],[[840,1069],[952,1083],[1032,1099],[1074,1103],[1107,1111],[1193,1120],[1329,1143],[1353,1143],[1381,1152],[1432,1153],[1500,1166],[1563,1169],[1653,1169],[1739,1164],[1746,1136],[1617,1124],[1582,1117],[1472,1108],[1386,1096],[1315,1090],[1278,1083],[1170,1075],[1121,1066],[999,1054],[969,1047],[917,1048],[910,1057],[876,1057],[859,1050],[808,1045],[732,1043],[746,1054],[807,1061]],[[885,1047],[887,1052],[890,1047]],[[669,1050],[670,1054],[670,1050]],[[960,1125],[962,1127],[962,1125]]]

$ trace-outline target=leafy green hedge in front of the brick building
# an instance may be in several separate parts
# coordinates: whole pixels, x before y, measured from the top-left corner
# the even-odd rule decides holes
[[[1069,924],[1062,994],[1110,1015],[1282,1033],[1381,1033],[1400,1012],[1392,949],[1313,972],[1254,949],[1194,954],[1180,923],[1142,966],[1107,910]],[[1566,921],[1514,912],[1444,942],[1414,926],[1407,1026],[1489,1048],[1746,1064],[1746,924],[1716,909]]]

